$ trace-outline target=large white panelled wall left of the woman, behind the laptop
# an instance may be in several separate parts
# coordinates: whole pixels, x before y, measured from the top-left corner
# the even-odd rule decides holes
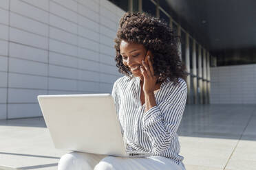
[[[41,116],[37,95],[110,93],[123,13],[107,0],[1,0],[0,119]]]

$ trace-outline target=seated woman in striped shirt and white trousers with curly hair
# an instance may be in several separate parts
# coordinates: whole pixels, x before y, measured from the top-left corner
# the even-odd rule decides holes
[[[178,37],[160,19],[126,13],[120,20],[112,90],[127,151],[151,152],[147,158],[120,158],[73,152],[61,157],[63,169],[184,170],[176,134],[186,104],[186,73]]]

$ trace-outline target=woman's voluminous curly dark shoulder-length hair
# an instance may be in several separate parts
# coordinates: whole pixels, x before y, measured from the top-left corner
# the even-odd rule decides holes
[[[151,51],[153,55],[153,70],[158,82],[164,82],[167,77],[174,84],[178,83],[178,78],[186,80],[185,66],[180,60],[178,43],[180,37],[177,36],[169,25],[156,17],[146,13],[125,13],[119,22],[114,45],[116,49],[116,66],[118,71],[125,75],[131,75],[129,68],[122,63],[120,55],[120,42],[134,42],[142,44],[145,49]]]

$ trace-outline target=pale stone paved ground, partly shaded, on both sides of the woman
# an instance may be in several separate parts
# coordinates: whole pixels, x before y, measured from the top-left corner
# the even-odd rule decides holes
[[[188,105],[178,134],[187,170],[256,169],[255,105]],[[66,152],[42,118],[0,121],[0,169],[56,170]]]

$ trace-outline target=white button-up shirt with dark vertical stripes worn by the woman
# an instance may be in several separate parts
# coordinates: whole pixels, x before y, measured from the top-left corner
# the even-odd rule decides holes
[[[186,82],[179,78],[174,86],[167,79],[155,93],[156,106],[145,112],[140,101],[140,78],[120,77],[114,83],[112,96],[127,151],[152,152],[180,163],[180,143],[176,133],[186,105]]]

